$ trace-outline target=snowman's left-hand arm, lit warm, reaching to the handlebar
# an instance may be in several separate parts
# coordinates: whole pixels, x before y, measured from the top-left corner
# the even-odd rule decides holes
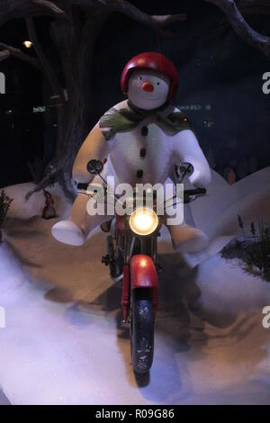
[[[88,134],[83,145],[79,149],[72,168],[73,181],[77,183],[90,183],[94,175],[87,172],[86,166],[92,158],[103,160],[108,155],[108,141],[104,139],[98,123]]]

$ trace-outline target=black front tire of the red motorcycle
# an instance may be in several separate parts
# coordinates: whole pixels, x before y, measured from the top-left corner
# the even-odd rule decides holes
[[[147,374],[154,356],[154,313],[150,288],[132,291],[130,341],[134,372]]]

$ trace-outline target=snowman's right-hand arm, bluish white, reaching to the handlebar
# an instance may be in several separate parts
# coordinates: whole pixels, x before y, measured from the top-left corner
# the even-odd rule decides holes
[[[191,163],[193,174],[189,181],[193,186],[204,187],[211,182],[211,169],[202,153],[202,148],[196,139],[193,130],[182,130],[173,139],[173,157],[175,165]]]

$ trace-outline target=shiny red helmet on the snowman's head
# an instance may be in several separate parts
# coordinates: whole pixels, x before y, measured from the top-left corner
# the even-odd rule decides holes
[[[173,98],[178,85],[177,70],[173,62],[160,53],[140,53],[134,58],[130,58],[121,73],[121,91],[123,93],[128,92],[130,73],[139,68],[155,69],[166,75],[171,81],[167,99]]]

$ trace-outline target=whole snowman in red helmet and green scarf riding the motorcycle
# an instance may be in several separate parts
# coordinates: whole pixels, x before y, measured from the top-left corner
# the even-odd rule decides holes
[[[105,112],[90,131],[76,156],[74,183],[94,183],[94,175],[87,172],[86,165],[91,159],[107,157],[102,175],[112,175],[115,184],[165,184],[181,163],[192,164],[189,181],[193,186],[209,184],[211,170],[192,126],[184,113],[170,103],[177,82],[175,66],[165,56],[147,52],[131,58],[121,74],[121,90],[128,99]],[[87,201],[85,195],[77,195],[68,219],[52,227],[54,238],[69,245],[83,245],[94,228],[111,219],[89,215]],[[194,253],[207,245],[206,235],[185,223],[167,228],[177,251]]]

